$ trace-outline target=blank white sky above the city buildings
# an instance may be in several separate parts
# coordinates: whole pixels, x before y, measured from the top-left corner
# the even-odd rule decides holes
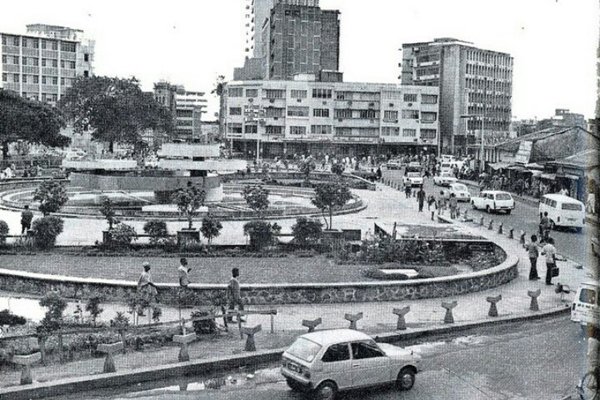
[[[96,41],[94,73],[159,80],[205,91],[205,119],[218,75],[245,57],[249,0],[26,0],[3,4],[0,32],[29,23],[79,28]],[[345,81],[399,83],[402,43],[454,37],[514,57],[513,118],[555,108],[592,118],[596,94],[597,0],[321,0],[341,12]]]

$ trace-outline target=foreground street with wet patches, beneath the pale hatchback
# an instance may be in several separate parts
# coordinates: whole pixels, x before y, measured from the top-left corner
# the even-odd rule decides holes
[[[583,375],[586,344],[582,330],[568,317],[493,326],[467,336],[438,337],[411,344],[423,356],[414,388],[358,390],[345,400],[404,399],[562,399],[575,393]],[[252,374],[248,379],[248,374]],[[277,365],[207,379],[150,382],[136,387],[76,393],[55,400],[86,399],[302,399],[292,392]]]

